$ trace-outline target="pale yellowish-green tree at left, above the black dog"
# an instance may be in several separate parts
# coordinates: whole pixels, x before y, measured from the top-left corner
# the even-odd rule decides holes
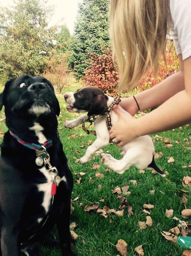
[[[0,73],[8,78],[40,74],[54,47],[55,28],[47,29],[50,10],[39,0],[16,0],[0,10]]]

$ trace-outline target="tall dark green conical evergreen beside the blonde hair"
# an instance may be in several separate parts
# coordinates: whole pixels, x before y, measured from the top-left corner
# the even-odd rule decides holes
[[[101,54],[102,48],[109,44],[108,32],[109,0],[83,0],[74,27],[71,55],[68,66],[77,78],[84,76],[90,58],[87,53]]]

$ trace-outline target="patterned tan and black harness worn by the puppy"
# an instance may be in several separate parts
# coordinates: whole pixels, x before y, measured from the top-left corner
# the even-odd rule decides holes
[[[116,96],[112,102],[112,104],[108,107],[107,111],[103,114],[99,114],[99,115],[91,115],[91,116],[88,116],[88,118],[84,118],[84,121],[82,123],[82,128],[84,130],[84,132],[86,132],[87,134],[94,134],[96,135],[96,132],[95,130],[88,130],[88,128],[92,125],[92,123],[102,117],[102,116],[105,116],[105,121],[106,121],[106,124],[107,124],[107,128],[108,130],[110,130],[112,128],[112,124],[111,124],[111,117],[110,117],[110,111],[112,110],[113,106],[116,105],[116,104],[119,104],[119,102],[121,101],[120,97],[119,96]],[[85,126],[85,122],[89,122],[90,124]]]

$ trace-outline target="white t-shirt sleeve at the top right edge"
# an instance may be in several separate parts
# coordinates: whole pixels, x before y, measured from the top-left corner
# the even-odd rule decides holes
[[[191,0],[170,0],[170,12],[176,53],[185,60],[191,56]]]

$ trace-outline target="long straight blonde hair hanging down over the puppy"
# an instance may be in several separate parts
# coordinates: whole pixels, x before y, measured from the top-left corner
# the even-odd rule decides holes
[[[171,16],[169,0],[110,0],[110,38],[117,60],[119,91],[134,89],[139,80],[165,60]]]

